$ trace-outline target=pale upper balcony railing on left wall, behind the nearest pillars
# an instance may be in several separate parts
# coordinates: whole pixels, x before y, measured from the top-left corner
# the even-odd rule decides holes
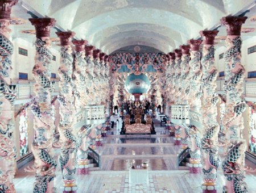
[[[58,95],[59,94],[59,82],[52,82],[53,87],[55,91],[51,93],[52,96]],[[16,100],[23,100],[23,99],[30,99],[31,96],[34,96],[34,82],[30,83],[16,83],[13,86],[15,86],[15,91],[16,91]]]

